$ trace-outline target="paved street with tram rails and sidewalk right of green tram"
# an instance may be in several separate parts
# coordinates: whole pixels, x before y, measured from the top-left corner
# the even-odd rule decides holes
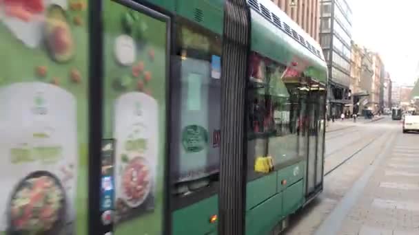
[[[388,116],[328,128],[323,193],[284,234],[419,234],[419,133]]]

